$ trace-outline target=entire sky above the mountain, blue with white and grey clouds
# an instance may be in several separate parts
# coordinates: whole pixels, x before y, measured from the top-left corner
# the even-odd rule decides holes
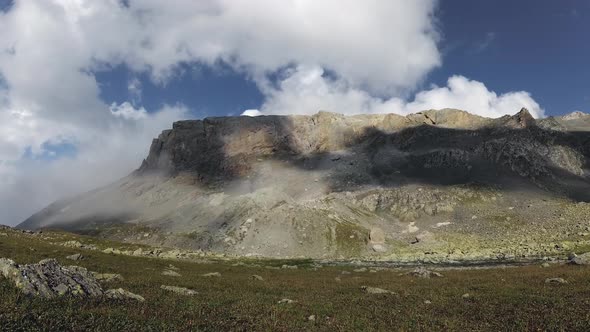
[[[0,0],[0,224],[207,116],[590,112],[586,0]]]

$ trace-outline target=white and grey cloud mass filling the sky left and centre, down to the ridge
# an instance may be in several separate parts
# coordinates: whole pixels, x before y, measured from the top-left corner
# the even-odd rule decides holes
[[[526,104],[541,116],[525,92],[496,95],[460,76],[412,102],[400,98],[441,65],[436,5],[17,0],[0,12],[0,223],[128,174],[152,137],[190,116],[182,105],[144,109],[134,79],[127,82],[129,101],[102,100],[95,73],[119,65],[166,84],[183,64],[222,62],[266,96],[248,115],[408,113],[438,105],[492,115]],[[70,144],[76,153],[43,160],[48,142]]]

